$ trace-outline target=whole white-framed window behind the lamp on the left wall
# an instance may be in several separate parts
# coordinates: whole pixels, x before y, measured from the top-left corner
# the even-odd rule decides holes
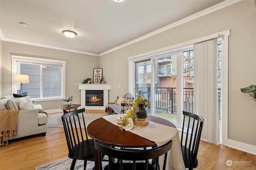
[[[23,92],[30,98],[49,100],[65,96],[66,61],[11,56],[13,74],[26,74],[28,84],[22,84]],[[13,77],[13,75],[12,75]],[[20,84],[16,83],[13,93],[20,93]]]

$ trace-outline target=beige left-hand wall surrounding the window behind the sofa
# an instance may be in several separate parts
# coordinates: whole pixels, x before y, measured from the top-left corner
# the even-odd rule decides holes
[[[74,102],[79,104],[80,90],[77,83],[82,83],[86,78],[92,78],[93,69],[99,67],[97,56],[2,41],[2,96],[12,95],[10,55],[66,61],[66,97],[73,96]],[[56,100],[37,102],[37,104],[41,104],[44,110],[50,110],[58,109],[58,106],[64,102]]]

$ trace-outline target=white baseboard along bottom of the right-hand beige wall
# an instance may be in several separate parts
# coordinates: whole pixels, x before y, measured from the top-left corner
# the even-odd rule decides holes
[[[256,155],[256,146],[228,139],[228,147]]]

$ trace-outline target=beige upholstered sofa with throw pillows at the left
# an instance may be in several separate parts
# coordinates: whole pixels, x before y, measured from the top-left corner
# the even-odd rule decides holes
[[[47,132],[46,123],[48,122],[48,116],[46,113],[40,113],[42,106],[33,104],[29,96],[22,98],[5,96],[4,98],[0,98],[0,111],[2,111],[2,113],[5,109],[17,109],[17,106],[14,106],[13,103],[10,106],[10,100],[12,102],[14,101],[13,103],[18,103],[19,112],[17,117],[17,135],[14,138],[9,137],[9,140],[40,133],[42,136],[45,136]]]

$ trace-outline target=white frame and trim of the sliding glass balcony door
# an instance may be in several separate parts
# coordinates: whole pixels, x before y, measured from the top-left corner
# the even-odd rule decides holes
[[[178,49],[187,45],[191,45],[194,43],[198,43],[201,41],[206,41],[208,39],[212,39],[212,38],[216,38],[216,37],[222,37],[222,63],[221,63],[221,68],[222,68],[222,77],[221,77],[221,113],[222,113],[222,118],[221,118],[221,132],[222,132],[222,136],[221,136],[221,144],[222,145],[226,145],[228,146],[228,37],[230,36],[230,30],[226,30],[226,31],[222,31],[222,32],[218,32],[218,33],[214,33],[211,35],[207,35],[204,37],[200,37],[197,39],[192,39],[189,41],[185,41],[182,43],[178,43],[175,45],[171,45],[168,47],[164,47],[161,49],[156,49],[154,51],[149,51],[146,53],[142,53],[142,54],[138,54],[138,55],[134,55],[131,57],[128,57],[128,81],[129,81],[129,85],[128,85],[128,90],[130,93],[132,93],[133,95],[135,94],[135,62],[137,61],[143,61],[146,59],[151,59],[151,67],[152,67],[152,73],[151,75],[154,75],[154,62],[153,59],[158,57],[158,56],[162,56],[163,54],[166,53],[170,53],[171,51],[173,51],[174,49]],[[178,57],[178,56],[177,56]],[[183,63],[181,63],[180,61],[177,61],[177,67],[178,65],[182,66]],[[179,73],[182,75],[182,73]],[[178,73],[177,73],[177,76]],[[181,80],[179,80],[180,82],[177,82],[177,93],[182,92],[182,82]],[[154,81],[151,82],[151,88],[154,90],[155,86],[154,86]],[[178,95],[180,96],[180,95]],[[151,100],[154,101],[154,93],[151,93]],[[177,103],[182,103],[182,98],[178,98],[177,99],[180,102]],[[177,106],[177,117],[178,116],[182,116],[181,110],[182,106]],[[153,115],[154,109],[152,107],[151,109],[151,114]],[[179,114],[179,115],[178,115]],[[177,124],[181,124],[181,122],[177,121]]]

